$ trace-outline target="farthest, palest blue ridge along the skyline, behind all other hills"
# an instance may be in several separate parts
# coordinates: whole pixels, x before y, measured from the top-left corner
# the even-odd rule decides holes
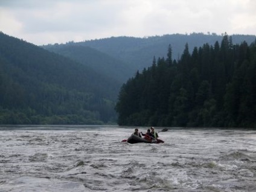
[[[142,71],[152,64],[153,56],[166,57],[166,50],[171,44],[173,48],[173,59],[178,60],[184,50],[185,43],[188,43],[190,53],[194,46],[202,46],[203,43],[214,45],[216,41],[221,41],[223,35],[217,34],[166,34],[164,36],[151,37],[110,37],[105,39],[86,40],[85,42],[77,42],[74,45],[89,46],[95,50],[101,51],[119,60],[123,60],[134,71]],[[232,41],[234,44],[240,44],[246,41],[248,44],[254,42],[256,36],[234,34]],[[70,43],[71,45],[71,43]]]

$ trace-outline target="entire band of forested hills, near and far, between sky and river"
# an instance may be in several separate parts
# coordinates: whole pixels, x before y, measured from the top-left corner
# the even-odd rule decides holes
[[[0,33],[0,124],[107,124],[118,112],[120,125],[255,127],[252,38],[110,37],[45,50]]]

